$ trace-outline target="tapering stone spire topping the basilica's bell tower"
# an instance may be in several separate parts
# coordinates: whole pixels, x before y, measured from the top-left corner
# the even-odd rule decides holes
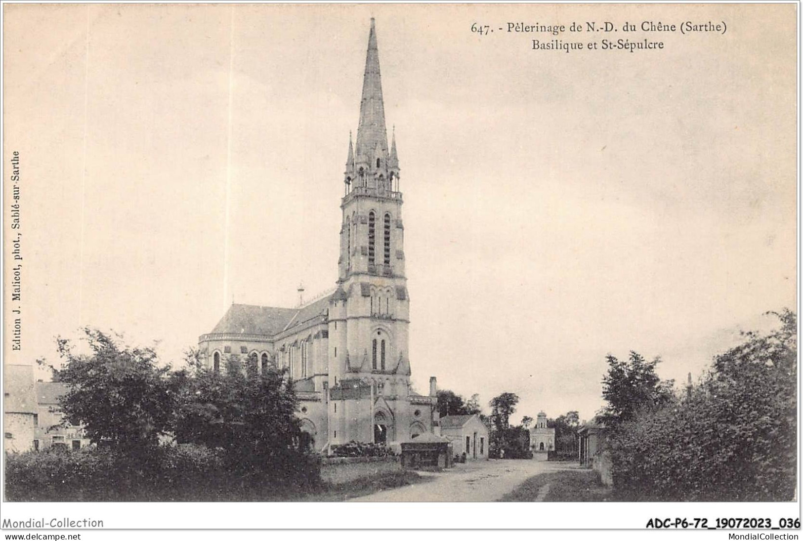
[[[379,74],[379,51],[377,31],[371,18],[371,31],[368,35],[368,53],[365,57],[365,75],[362,80],[362,100],[360,102],[360,124],[357,127],[357,162],[376,166],[374,154],[379,152],[385,159],[388,156],[388,132],[385,128],[385,104],[382,102],[382,83]]]

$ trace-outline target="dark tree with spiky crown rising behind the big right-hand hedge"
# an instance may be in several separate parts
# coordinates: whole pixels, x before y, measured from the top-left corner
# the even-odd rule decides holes
[[[642,409],[656,409],[673,397],[674,381],[662,381],[655,373],[660,357],[647,361],[630,352],[627,362],[613,355],[606,357],[608,373],[602,380],[602,397],[608,405],[602,410],[601,421],[613,426],[630,421]]]

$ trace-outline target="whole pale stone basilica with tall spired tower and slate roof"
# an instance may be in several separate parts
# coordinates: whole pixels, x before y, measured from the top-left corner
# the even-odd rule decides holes
[[[410,296],[396,137],[388,145],[374,20],[357,138],[349,138],[340,200],[336,289],[296,308],[232,304],[199,338],[206,367],[287,369],[302,429],[316,450],[348,441],[411,441],[438,432],[436,382],[410,387]]]

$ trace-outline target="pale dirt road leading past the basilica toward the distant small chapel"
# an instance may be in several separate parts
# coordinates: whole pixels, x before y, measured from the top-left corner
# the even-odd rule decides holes
[[[490,460],[456,464],[428,482],[382,490],[350,502],[494,502],[533,475],[565,469],[567,463],[533,460]],[[573,463],[569,467],[574,466]]]

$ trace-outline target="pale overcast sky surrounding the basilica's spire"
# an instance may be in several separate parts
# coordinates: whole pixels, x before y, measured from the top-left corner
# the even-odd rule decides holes
[[[795,7],[6,5],[24,254],[8,362],[53,359],[79,325],[175,361],[232,298],[333,287],[374,16],[418,390],[433,375],[485,403],[517,393],[516,417],[588,419],[607,353],[697,377],[796,305]],[[531,40],[603,36],[498,30],[687,18],[728,31],[563,53]]]

